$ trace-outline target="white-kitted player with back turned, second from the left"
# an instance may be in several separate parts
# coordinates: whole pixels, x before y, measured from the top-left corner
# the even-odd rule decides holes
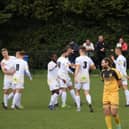
[[[16,52],[16,60],[14,62],[15,74],[13,75],[13,85],[15,86],[16,93],[12,102],[12,109],[22,109],[21,96],[24,89],[24,74],[26,74],[30,80],[32,80],[31,74],[29,72],[28,64],[24,61],[23,57],[25,55],[24,51]]]

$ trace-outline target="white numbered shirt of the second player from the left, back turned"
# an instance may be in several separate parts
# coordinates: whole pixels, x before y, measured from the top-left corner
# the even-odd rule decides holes
[[[21,79],[24,79],[25,73],[30,73],[28,68],[28,63],[24,61],[23,59],[16,59],[14,63],[15,67],[15,74],[14,76],[20,77]]]

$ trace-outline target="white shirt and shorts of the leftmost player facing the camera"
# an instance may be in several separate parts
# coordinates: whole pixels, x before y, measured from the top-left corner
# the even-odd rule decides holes
[[[8,60],[3,59],[1,61],[1,67],[2,69],[5,69],[7,71],[12,71],[14,70],[14,61],[16,60],[16,57],[14,56],[9,56]],[[13,85],[13,75],[6,75],[4,74],[4,86],[3,89],[14,89]]]

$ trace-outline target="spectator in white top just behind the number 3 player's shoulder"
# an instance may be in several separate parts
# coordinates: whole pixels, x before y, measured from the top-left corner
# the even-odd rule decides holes
[[[89,40],[87,39],[84,43],[83,43],[83,46],[86,48],[86,51],[87,51],[87,55],[91,58],[93,58],[94,56],[94,44]]]

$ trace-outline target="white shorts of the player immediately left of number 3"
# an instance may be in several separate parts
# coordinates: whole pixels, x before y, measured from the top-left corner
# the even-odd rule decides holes
[[[66,79],[65,82],[62,79],[59,79],[60,88],[68,88],[72,86],[72,81],[70,78]]]

